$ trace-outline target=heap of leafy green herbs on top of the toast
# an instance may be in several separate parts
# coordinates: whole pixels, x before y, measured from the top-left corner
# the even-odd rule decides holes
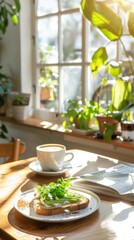
[[[59,178],[56,183],[50,182],[49,185],[38,185],[35,188],[35,197],[44,206],[55,206],[79,201],[81,196],[69,191],[70,186],[70,178],[66,180]]]

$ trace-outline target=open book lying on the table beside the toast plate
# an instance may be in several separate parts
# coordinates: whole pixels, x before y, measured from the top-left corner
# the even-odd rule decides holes
[[[85,167],[86,169],[86,167]],[[73,186],[134,202],[134,165],[117,164],[96,172],[73,175]]]

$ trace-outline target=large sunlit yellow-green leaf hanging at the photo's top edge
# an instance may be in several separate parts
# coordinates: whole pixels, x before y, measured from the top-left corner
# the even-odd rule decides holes
[[[120,16],[104,2],[82,0],[81,11],[110,41],[120,39],[122,35],[122,21]]]

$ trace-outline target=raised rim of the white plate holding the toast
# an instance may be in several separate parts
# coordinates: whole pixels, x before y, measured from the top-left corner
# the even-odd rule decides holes
[[[84,215],[79,214],[79,216],[75,216],[75,217],[72,217],[72,218],[69,218],[69,217],[64,218],[64,217],[62,216],[62,218],[59,218],[59,219],[57,218],[57,219],[55,219],[55,217],[56,217],[57,215],[60,215],[60,214],[53,215],[53,216],[54,216],[53,218],[52,218],[52,216],[51,216],[52,219],[49,219],[49,218],[48,218],[48,217],[50,217],[50,216],[46,216],[46,217],[43,216],[43,217],[42,217],[42,215],[38,215],[38,214],[36,214],[36,213],[35,213],[35,215],[38,215],[37,217],[36,217],[36,216],[28,215],[28,214],[22,212],[22,211],[17,207],[17,203],[18,203],[18,200],[19,200],[22,196],[25,196],[26,194],[30,194],[30,193],[34,192],[34,189],[27,190],[27,191],[21,193],[20,195],[18,195],[18,196],[16,197],[13,205],[14,205],[14,208],[15,208],[20,214],[22,214],[23,216],[25,216],[25,217],[27,217],[27,218],[29,218],[29,219],[32,219],[32,220],[35,220],[35,221],[40,221],[40,222],[52,222],[52,223],[76,221],[76,220],[85,218],[85,217],[93,214],[95,211],[97,211],[97,210],[99,209],[99,206],[100,206],[100,198],[99,198],[99,196],[98,196],[96,193],[94,193],[94,192],[92,192],[92,191],[90,191],[90,190],[81,189],[81,188],[78,188],[78,187],[71,187],[71,189],[74,190],[74,191],[76,191],[76,192],[88,194],[88,195],[90,196],[90,198],[93,197],[93,198],[95,199],[95,201],[96,201],[96,207],[91,211],[91,213],[90,213],[90,207],[88,206],[89,210],[86,211]],[[89,204],[90,204],[90,203],[89,203]],[[81,210],[77,210],[77,211],[79,211],[79,212],[81,213],[81,212],[84,211],[84,210],[85,210],[85,209],[81,209]]]

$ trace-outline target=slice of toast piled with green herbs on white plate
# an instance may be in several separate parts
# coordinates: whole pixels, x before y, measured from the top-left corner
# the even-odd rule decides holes
[[[89,199],[71,188],[71,179],[59,178],[57,182],[48,185],[38,185],[34,195],[34,210],[41,215],[55,215],[64,213],[65,210],[84,209],[89,204]]]

